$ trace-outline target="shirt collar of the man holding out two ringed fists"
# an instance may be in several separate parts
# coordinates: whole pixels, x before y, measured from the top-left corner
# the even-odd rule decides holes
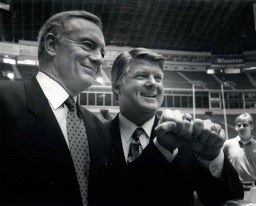
[[[121,132],[123,133],[126,142],[128,142],[132,136],[132,134],[134,133],[134,130],[138,127],[137,125],[135,125],[133,122],[131,122],[130,120],[126,119],[121,113],[119,113],[118,116],[119,119],[119,128],[121,130]],[[151,135],[151,131],[154,125],[154,121],[155,121],[155,116],[152,117],[149,121],[145,122],[141,127],[144,129],[144,131],[146,132],[148,138]]]

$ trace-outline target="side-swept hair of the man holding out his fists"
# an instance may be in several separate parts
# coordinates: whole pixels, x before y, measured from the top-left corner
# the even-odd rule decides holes
[[[145,48],[135,48],[130,50],[130,52],[122,52],[116,57],[112,69],[111,69],[111,81],[113,94],[118,100],[118,94],[115,93],[114,89],[123,83],[125,83],[125,77],[129,73],[130,64],[132,59],[146,59],[149,61],[157,61],[160,69],[163,70],[163,62],[165,58],[158,53]]]

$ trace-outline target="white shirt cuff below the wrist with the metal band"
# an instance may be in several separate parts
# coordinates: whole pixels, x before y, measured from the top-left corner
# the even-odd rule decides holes
[[[196,157],[197,160],[207,169],[210,170],[213,176],[217,178],[221,178],[223,167],[224,167],[224,153],[223,150],[221,150],[221,153],[219,156],[217,156],[213,161],[208,160],[202,160],[198,157]]]

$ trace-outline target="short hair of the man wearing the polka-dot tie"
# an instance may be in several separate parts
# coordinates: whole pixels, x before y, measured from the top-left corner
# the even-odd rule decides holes
[[[68,25],[68,21],[71,18],[84,18],[93,23],[95,23],[102,31],[101,20],[94,14],[91,14],[83,10],[74,11],[64,11],[53,15],[49,18],[44,25],[41,27],[37,40],[39,42],[38,46],[38,61],[39,65],[43,59],[44,51],[44,38],[47,34],[52,33],[56,36],[58,42],[62,43],[70,32],[72,28]]]

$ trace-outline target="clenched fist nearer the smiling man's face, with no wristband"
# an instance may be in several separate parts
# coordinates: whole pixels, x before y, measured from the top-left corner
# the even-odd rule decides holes
[[[193,121],[182,119],[179,110],[166,109],[155,128],[157,141],[165,149],[173,152],[176,148],[191,139],[193,133]]]

